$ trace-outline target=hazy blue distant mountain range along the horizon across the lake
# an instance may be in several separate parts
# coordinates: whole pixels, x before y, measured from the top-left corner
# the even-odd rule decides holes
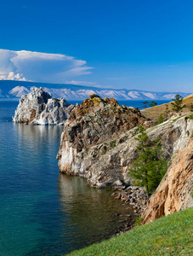
[[[127,90],[127,89],[108,89],[88,87],[74,84],[46,84],[25,81],[0,80],[0,100],[1,99],[17,99],[25,95],[31,87],[43,87],[44,90],[50,92],[53,96],[63,97],[69,101],[82,101],[91,94],[97,94],[104,98],[105,96],[115,98],[116,100],[169,100],[176,94],[183,97],[189,96],[191,93],[183,92],[155,92],[147,90]]]

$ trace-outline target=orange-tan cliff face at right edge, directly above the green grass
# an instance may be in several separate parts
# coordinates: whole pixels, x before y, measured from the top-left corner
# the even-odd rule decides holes
[[[144,222],[150,222],[163,215],[193,207],[191,189],[193,186],[193,140],[188,147],[179,150],[168,168],[156,193],[150,197]]]

